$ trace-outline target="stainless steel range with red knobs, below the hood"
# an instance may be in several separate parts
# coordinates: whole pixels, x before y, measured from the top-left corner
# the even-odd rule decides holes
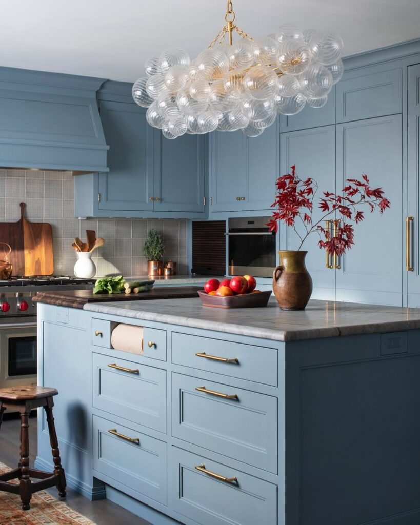
[[[35,383],[36,303],[44,290],[89,290],[95,279],[13,277],[0,280],[0,387]]]

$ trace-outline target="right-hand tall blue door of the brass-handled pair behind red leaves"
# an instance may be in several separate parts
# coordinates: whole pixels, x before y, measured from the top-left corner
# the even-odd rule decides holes
[[[402,116],[337,125],[337,190],[365,173],[391,201],[383,215],[369,213],[354,227],[354,246],[341,257],[338,301],[402,306]]]

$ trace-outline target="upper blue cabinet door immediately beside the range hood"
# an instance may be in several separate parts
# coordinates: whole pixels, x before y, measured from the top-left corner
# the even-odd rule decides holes
[[[153,128],[137,104],[100,102],[109,173],[99,175],[99,210],[152,211]]]

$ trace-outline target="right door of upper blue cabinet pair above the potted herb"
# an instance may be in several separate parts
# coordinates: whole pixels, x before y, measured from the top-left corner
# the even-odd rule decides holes
[[[204,149],[204,135],[168,140],[155,131],[155,212],[204,213]]]

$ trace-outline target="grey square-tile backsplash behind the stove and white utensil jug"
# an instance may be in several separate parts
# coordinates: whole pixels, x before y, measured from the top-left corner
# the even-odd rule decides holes
[[[178,275],[187,273],[187,227],[184,219],[74,218],[74,184],[71,172],[0,169],[0,222],[20,217],[19,203],[26,204],[26,218],[53,226],[54,271],[73,275],[75,237],[86,238],[93,229],[105,244],[92,260],[97,276],[140,276],[147,272],[143,244],[149,229],[163,233],[165,260],[177,262]],[[1,240],[1,239],[0,239]]]

